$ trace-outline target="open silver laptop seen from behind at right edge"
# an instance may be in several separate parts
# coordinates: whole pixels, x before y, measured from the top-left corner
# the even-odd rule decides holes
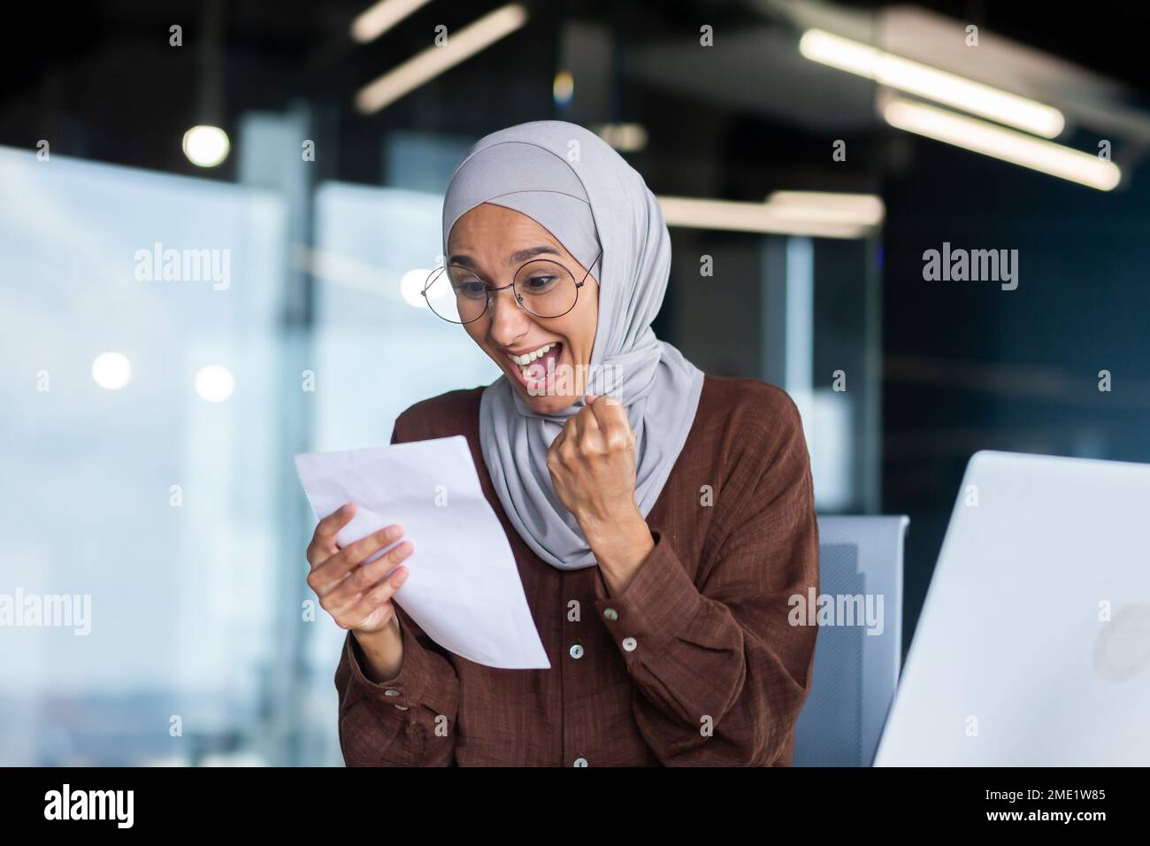
[[[875,767],[1150,764],[1150,465],[977,452]]]

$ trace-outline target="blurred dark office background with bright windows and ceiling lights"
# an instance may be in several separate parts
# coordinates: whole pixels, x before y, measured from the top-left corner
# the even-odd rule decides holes
[[[291,456],[498,375],[419,290],[513,123],[644,175],[658,334],[791,392],[822,513],[911,517],[904,642],[974,451],[1150,462],[1143,3],[39,17],[0,51],[0,594],[90,595],[91,632],[0,630],[2,764],[342,763]],[[944,244],[1017,250],[1018,287],[925,280]],[[199,272],[148,279],[169,249]]]

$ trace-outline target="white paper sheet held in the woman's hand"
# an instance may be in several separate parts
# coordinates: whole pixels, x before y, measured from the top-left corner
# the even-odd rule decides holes
[[[404,527],[379,555],[402,540],[414,544],[393,599],[436,643],[486,666],[551,666],[466,437],[298,455],[296,468],[317,519],[355,503],[336,535],[340,546]]]

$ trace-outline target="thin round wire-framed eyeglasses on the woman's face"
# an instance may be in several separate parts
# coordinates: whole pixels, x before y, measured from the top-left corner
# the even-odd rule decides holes
[[[581,282],[558,261],[532,259],[515,270],[511,284],[494,288],[462,265],[448,264],[434,269],[420,291],[437,317],[450,323],[470,323],[482,318],[496,294],[512,288],[515,303],[537,318],[561,318],[578,302],[578,289],[599,262],[603,251],[595,257]]]

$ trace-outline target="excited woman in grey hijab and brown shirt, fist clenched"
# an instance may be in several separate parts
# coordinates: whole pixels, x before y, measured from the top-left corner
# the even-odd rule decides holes
[[[340,549],[308,582],[348,630],[336,671],[348,765],[787,765],[811,684],[818,529],[798,412],[704,375],[651,329],[670,267],[659,205],[588,130],[481,139],[444,199],[424,290],[503,369],[416,403],[392,443],[465,435],[519,565],[547,670],[475,664],[391,602],[402,535]],[[390,577],[384,579],[390,571]]]

